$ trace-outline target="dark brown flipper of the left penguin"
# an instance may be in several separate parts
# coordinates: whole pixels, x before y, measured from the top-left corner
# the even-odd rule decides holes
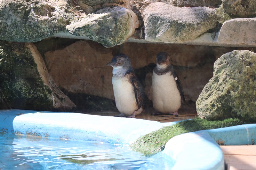
[[[138,78],[132,76],[131,82],[133,85],[134,95],[135,95],[136,103],[139,110],[140,107],[144,108],[143,88]]]

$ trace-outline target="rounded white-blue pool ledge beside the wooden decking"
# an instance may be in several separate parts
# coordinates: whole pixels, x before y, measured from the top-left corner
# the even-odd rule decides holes
[[[182,134],[170,139],[162,152],[172,160],[172,170],[224,169],[220,146],[205,131]]]

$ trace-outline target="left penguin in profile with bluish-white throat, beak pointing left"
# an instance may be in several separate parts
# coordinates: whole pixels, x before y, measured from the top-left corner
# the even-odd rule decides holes
[[[116,107],[120,112],[116,116],[134,118],[143,111],[144,90],[130,59],[125,54],[117,54],[107,66],[113,67],[112,85]]]

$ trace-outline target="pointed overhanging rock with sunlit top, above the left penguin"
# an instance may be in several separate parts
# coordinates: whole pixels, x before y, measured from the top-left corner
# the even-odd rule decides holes
[[[139,21],[133,11],[116,6],[88,14],[66,29],[73,35],[87,36],[105,47],[113,47],[127,41],[138,27]]]

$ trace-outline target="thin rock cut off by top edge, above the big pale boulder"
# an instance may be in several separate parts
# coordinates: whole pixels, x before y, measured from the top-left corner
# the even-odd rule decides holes
[[[178,7],[198,7],[198,6],[206,6],[213,7],[216,5],[220,5],[221,0],[171,0],[170,5],[178,6]]]

